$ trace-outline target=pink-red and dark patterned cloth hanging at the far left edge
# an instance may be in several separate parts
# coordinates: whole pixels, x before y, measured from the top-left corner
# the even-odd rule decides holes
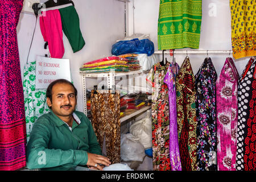
[[[22,6],[22,0],[0,0],[0,171],[26,166],[26,121],[16,34]]]

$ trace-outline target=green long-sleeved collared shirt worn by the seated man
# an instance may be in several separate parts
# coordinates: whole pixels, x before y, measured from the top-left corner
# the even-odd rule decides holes
[[[72,131],[52,110],[38,118],[27,143],[27,168],[72,170],[86,165],[87,152],[101,155],[89,119],[79,111],[73,117]]]

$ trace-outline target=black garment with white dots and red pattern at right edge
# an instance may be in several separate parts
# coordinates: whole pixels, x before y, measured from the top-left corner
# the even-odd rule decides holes
[[[237,171],[256,170],[256,59],[251,58],[243,71],[238,85],[238,123],[237,123]]]

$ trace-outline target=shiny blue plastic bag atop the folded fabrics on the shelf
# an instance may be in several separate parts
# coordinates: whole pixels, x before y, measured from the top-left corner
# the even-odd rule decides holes
[[[146,53],[151,56],[154,53],[154,43],[149,39],[121,40],[112,46],[112,54],[115,56],[126,53]]]

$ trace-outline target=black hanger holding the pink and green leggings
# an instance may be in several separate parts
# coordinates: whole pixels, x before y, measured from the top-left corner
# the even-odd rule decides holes
[[[32,9],[34,10],[34,14],[38,16],[38,12],[40,9],[44,8],[49,8],[49,7],[55,7],[55,6],[61,6],[61,5],[67,5],[69,3],[72,3],[73,6],[75,6],[74,2],[71,0],[49,0],[45,3],[33,3]]]

